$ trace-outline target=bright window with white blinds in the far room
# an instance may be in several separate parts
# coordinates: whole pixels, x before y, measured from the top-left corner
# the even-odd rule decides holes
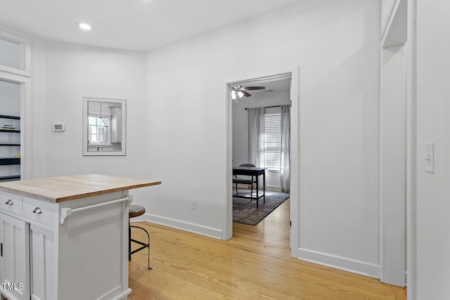
[[[264,121],[263,121],[264,119]],[[264,117],[261,117],[261,122],[264,122],[264,134],[259,136],[259,148],[262,148],[259,156],[259,166],[264,166],[272,171],[280,171],[282,165],[282,157],[284,148],[289,150],[289,118],[283,118],[283,126],[287,133],[286,143],[282,145],[282,124],[281,112],[266,112]]]

